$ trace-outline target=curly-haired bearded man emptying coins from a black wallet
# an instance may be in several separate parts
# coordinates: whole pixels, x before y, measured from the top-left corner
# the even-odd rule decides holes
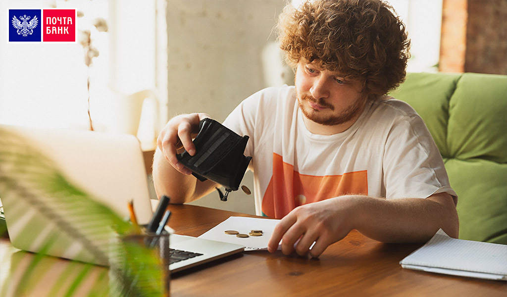
[[[439,228],[458,236],[456,193],[431,135],[385,96],[404,80],[409,48],[391,11],[380,0],[287,6],[279,40],[295,86],[253,94],[224,122],[250,137],[256,212],[281,218],[269,251],[282,240],[284,254],[317,257],[352,229],[383,242],[423,242]],[[155,189],[173,203],[214,189],[176,159],[183,148],[195,154],[205,117],[177,116],[158,138]]]

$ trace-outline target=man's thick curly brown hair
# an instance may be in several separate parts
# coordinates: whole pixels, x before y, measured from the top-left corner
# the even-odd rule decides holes
[[[381,0],[309,0],[287,5],[278,39],[286,61],[319,61],[364,83],[367,94],[384,95],[405,80],[410,40],[405,25]]]

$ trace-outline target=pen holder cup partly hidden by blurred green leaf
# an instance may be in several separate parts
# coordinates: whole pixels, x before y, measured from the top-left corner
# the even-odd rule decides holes
[[[169,233],[130,234],[119,242],[115,262],[125,280],[122,287],[129,287],[132,295],[169,296]]]

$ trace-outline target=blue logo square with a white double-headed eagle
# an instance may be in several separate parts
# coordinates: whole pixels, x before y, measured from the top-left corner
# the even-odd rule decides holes
[[[9,42],[41,42],[42,10],[10,9]]]

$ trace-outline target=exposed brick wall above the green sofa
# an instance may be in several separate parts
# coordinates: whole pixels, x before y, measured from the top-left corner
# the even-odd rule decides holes
[[[439,70],[507,75],[507,0],[444,0]]]

